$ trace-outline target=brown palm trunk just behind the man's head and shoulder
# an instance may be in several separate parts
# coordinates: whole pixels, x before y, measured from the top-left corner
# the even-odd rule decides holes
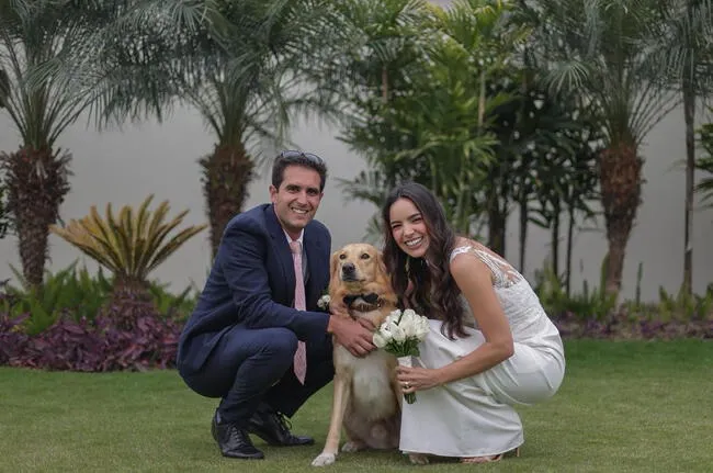
[[[199,162],[203,168],[203,195],[211,225],[211,248],[215,258],[226,225],[242,211],[254,164],[244,145],[216,146],[213,155]]]

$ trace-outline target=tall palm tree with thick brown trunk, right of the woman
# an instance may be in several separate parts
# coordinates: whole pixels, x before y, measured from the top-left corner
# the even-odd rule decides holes
[[[618,294],[626,244],[641,203],[640,148],[678,103],[650,70],[652,50],[641,45],[659,20],[654,0],[522,0],[535,25],[533,48],[556,90],[579,91],[603,125],[599,156],[606,219],[606,290]]]

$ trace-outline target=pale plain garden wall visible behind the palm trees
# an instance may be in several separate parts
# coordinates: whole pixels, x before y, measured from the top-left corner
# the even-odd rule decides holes
[[[644,263],[643,297],[657,297],[658,286],[675,291],[681,283],[683,249],[683,172],[671,169],[674,162],[684,155],[683,123],[680,111],[670,114],[648,137],[643,149],[644,167],[643,205],[638,222],[629,244],[624,269],[623,294],[631,296],[635,290],[636,269]],[[363,169],[363,161],[350,154],[336,139],[333,129],[301,124],[293,132],[293,139],[305,149],[325,157],[330,177],[351,178]],[[5,115],[0,115],[0,149],[13,150],[18,146],[16,134]],[[186,224],[205,222],[203,196],[196,159],[208,153],[213,139],[206,133],[201,117],[191,110],[178,110],[163,125],[154,122],[126,126],[122,132],[97,133],[81,125],[69,128],[59,143],[73,155],[71,192],[61,207],[65,219],[79,218],[90,205],[100,211],[107,202],[115,207],[125,203],[137,204],[149,193],[156,201],[168,199],[171,213],[189,209]],[[268,200],[268,172],[250,188],[248,205]],[[328,181],[325,199],[317,217],[332,230],[335,247],[360,240],[365,234],[367,218],[375,209],[370,205],[347,202]],[[518,258],[517,213],[512,215],[508,230],[508,257],[513,263]],[[699,212],[694,221],[694,290],[703,291],[713,281],[713,211]],[[564,233],[563,233],[564,238]],[[61,239],[52,237],[52,262],[49,268],[65,268],[80,258],[80,254]],[[528,248],[527,275],[540,268],[548,255],[548,232],[532,227]],[[597,283],[601,259],[607,244],[603,233],[580,232],[576,237],[574,259],[574,288],[581,288],[582,279]],[[562,244],[564,259],[564,240]],[[191,281],[201,286],[208,269],[210,246],[207,232],[182,247],[154,277],[181,290]],[[580,272],[580,261],[584,271]],[[14,237],[0,240],[0,280],[10,277],[9,263],[19,267]],[[93,268],[91,261],[88,266]]]

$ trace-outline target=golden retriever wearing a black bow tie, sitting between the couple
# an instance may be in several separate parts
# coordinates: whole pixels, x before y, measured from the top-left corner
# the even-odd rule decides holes
[[[352,318],[369,319],[374,327],[396,308],[397,301],[381,254],[367,244],[350,244],[331,255],[329,296],[343,300]],[[344,452],[398,448],[401,391],[396,358],[385,350],[358,358],[335,344],[333,363],[329,431],[324,450],[312,464],[336,461],[342,427],[348,440]]]

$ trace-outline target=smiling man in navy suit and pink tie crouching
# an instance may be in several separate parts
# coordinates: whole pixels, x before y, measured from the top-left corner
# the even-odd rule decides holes
[[[275,158],[272,204],[228,223],[181,334],[179,373],[196,393],[220,398],[212,431],[225,457],[264,458],[248,433],[273,446],[314,443],[292,435],[283,416],[332,379],[332,336],[355,356],[375,348],[358,323],[316,312],[329,283],[331,236],[313,219],[326,177],[316,155]]]

